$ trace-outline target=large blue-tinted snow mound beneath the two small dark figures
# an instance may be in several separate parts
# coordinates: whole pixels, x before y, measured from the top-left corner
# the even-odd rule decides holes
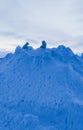
[[[0,59],[0,130],[83,130],[83,55],[18,46]]]

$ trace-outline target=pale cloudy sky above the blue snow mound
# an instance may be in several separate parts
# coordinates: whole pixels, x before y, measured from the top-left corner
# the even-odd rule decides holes
[[[83,52],[83,0],[0,0],[0,50],[42,40]]]

